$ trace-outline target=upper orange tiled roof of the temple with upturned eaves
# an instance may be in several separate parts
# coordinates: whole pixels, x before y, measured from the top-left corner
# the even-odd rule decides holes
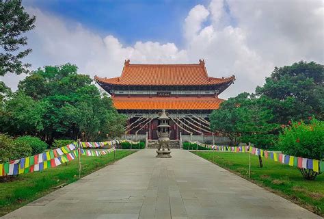
[[[124,63],[120,77],[95,76],[98,83],[130,86],[204,86],[230,83],[231,77],[208,77],[203,60],[199,64],[130,64]]]

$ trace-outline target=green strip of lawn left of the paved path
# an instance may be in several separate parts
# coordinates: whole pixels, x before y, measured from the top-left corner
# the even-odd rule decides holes
[[[135,151],[116,151],[116,160],[122,159]],[[113,153],[100,157],[81,156],[81,177],[90,174],[113,162]],[[18,175],[14,181],[0,183],[0,216],[22,207],[31,201],[49,194],[63,183],[72,183],[79,179],[78,160],[68,165],[49,168],[42,172]]]

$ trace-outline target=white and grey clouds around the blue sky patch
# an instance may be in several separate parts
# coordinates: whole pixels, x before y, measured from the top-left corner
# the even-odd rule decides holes
[[[125,47],[114,36],[100,37],[79,23],[28,8],[36,14],[36,29],[29,33],[34,68],[77,64],[81,73],[119,76],[124,60],[132,63],[206,62],[209,75],[236,75],[237,81],[221,94],[253,92],[274,66],[299,60],[324,62],[324,8],[322,1],[216,0],[196,5],[185,18],[185,47],[174,43],[136,42]],[[7,75],[13,88],[24,75]]]

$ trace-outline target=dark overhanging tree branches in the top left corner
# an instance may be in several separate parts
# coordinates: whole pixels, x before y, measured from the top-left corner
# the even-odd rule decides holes
[[[21,0],[0,1],[0,76],[27,72],[30,64],[23,64],[21,60],[31,49],[19,51],[19,47],[27,45],[27,37],[21,34],[33,29],[35,20],[35,16],[30,17],[25,12]]]

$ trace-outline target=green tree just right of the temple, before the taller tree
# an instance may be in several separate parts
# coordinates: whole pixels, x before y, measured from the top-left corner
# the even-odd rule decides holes
[[[211,129],[228,136],[234,145],[252,142],[266,148],[273,144],[271,131],[278,125],[270,123],[272,112],[260,104],[262,101],[248,93],[228,99],[211,114]]]

